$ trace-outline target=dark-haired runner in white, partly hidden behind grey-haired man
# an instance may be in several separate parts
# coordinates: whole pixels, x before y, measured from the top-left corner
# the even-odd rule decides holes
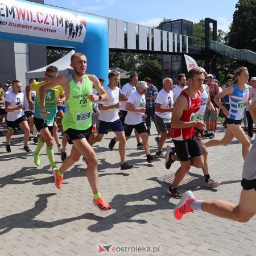
[[[131,93],[135,92],[135,90],[136,90],[135,85],[137,85],[137,83],[138,83],[138,74],[137,73],[131,74],[130,82],[123,85],[121,92],[119,94],[119,101],[121,101],[121,103],[122,103],[122,106],[120,109],[120,114],[121,114],[120,120],[123,124],[123,127],[125,127],[125,117],[127,115],[126,101],[130,97]],[[137,148],[138,149],[143,148],[143,143],[141,143],[141,139],[139,137],[139,134],[137,133],[137,130],[134,131],[134,134],[137,139]]]

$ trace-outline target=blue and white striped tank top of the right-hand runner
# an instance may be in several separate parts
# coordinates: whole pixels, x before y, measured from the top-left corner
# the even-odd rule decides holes
[[[229,96],[230,109],[229,118],[233,120],[243,119],[245,108],[250,94],[250,86],[245,85],[245,89],[240,90],[236,84],[233,85],[234,92]]]

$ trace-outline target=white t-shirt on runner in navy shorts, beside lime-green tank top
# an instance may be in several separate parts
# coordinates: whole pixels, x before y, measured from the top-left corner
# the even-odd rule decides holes
[[[120,89],[115,87],[115,89],[109,88],[109,86],[104,87],[106,93],[108,93],[109,100],[108,101],[99,101],[98,104],[101,105],[114,105],[119,102],[119,92]],[[98,115],[98,119],[105,122],[114,122],[119,119],[118,115],[118,108],[115,109],[108,109],[108,110],[101,110],[100,114]]]

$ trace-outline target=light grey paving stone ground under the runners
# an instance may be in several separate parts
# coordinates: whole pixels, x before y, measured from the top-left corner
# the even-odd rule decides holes
[[[151,133],[151,152],[155,152],[155,129]],[[216,137],[223,135],[218,129]],[[256,216],[245,224],[204,212],[175,220],[173,209],[179,200],[167,194],[163,179],[173,175],[179,163],[170,170],[164,167],[164,159],[148,164],[133,137],[126,152],[127,162],[135,168],[121,171],[118,145],[108,150],[112,136],[112,132],[105,135],[94,147],[100,192],[113,207],[107,213],[92,205],[81,159],[65,173],[59,190],[53,183],[45,148],[36,168],[32,155],[22,150],[22,135],[14,135],[10,154],[5,151],[5,137],[0,137],[0,255],[256,255]],[[30,147],[35,149],[36,144],[30,142]],[[196,197],[238,203],[241,148],[236,139],[226,147],[209,148],[210,175],[223,185],[217,189],[192,187]],[[60,166],[60,155],[56,153],[55,158]],[[191,175],[201,174],[201,170],[191,169]],[[98,253],[99,246],[110,246],[106,247],[109,253]],[[159,251],[131,251],[136,247]],[[130,252],[118,251],[121,248]]]

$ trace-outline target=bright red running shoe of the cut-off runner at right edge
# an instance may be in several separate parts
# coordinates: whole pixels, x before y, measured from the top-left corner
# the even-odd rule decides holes
[[[196,197],[190,190],[185,192],[181,197],[180,203],[174,208],[174,217],[180,220],[184,214],[193,212],[193,210],[189,209],[189,203],[195,200]]]

